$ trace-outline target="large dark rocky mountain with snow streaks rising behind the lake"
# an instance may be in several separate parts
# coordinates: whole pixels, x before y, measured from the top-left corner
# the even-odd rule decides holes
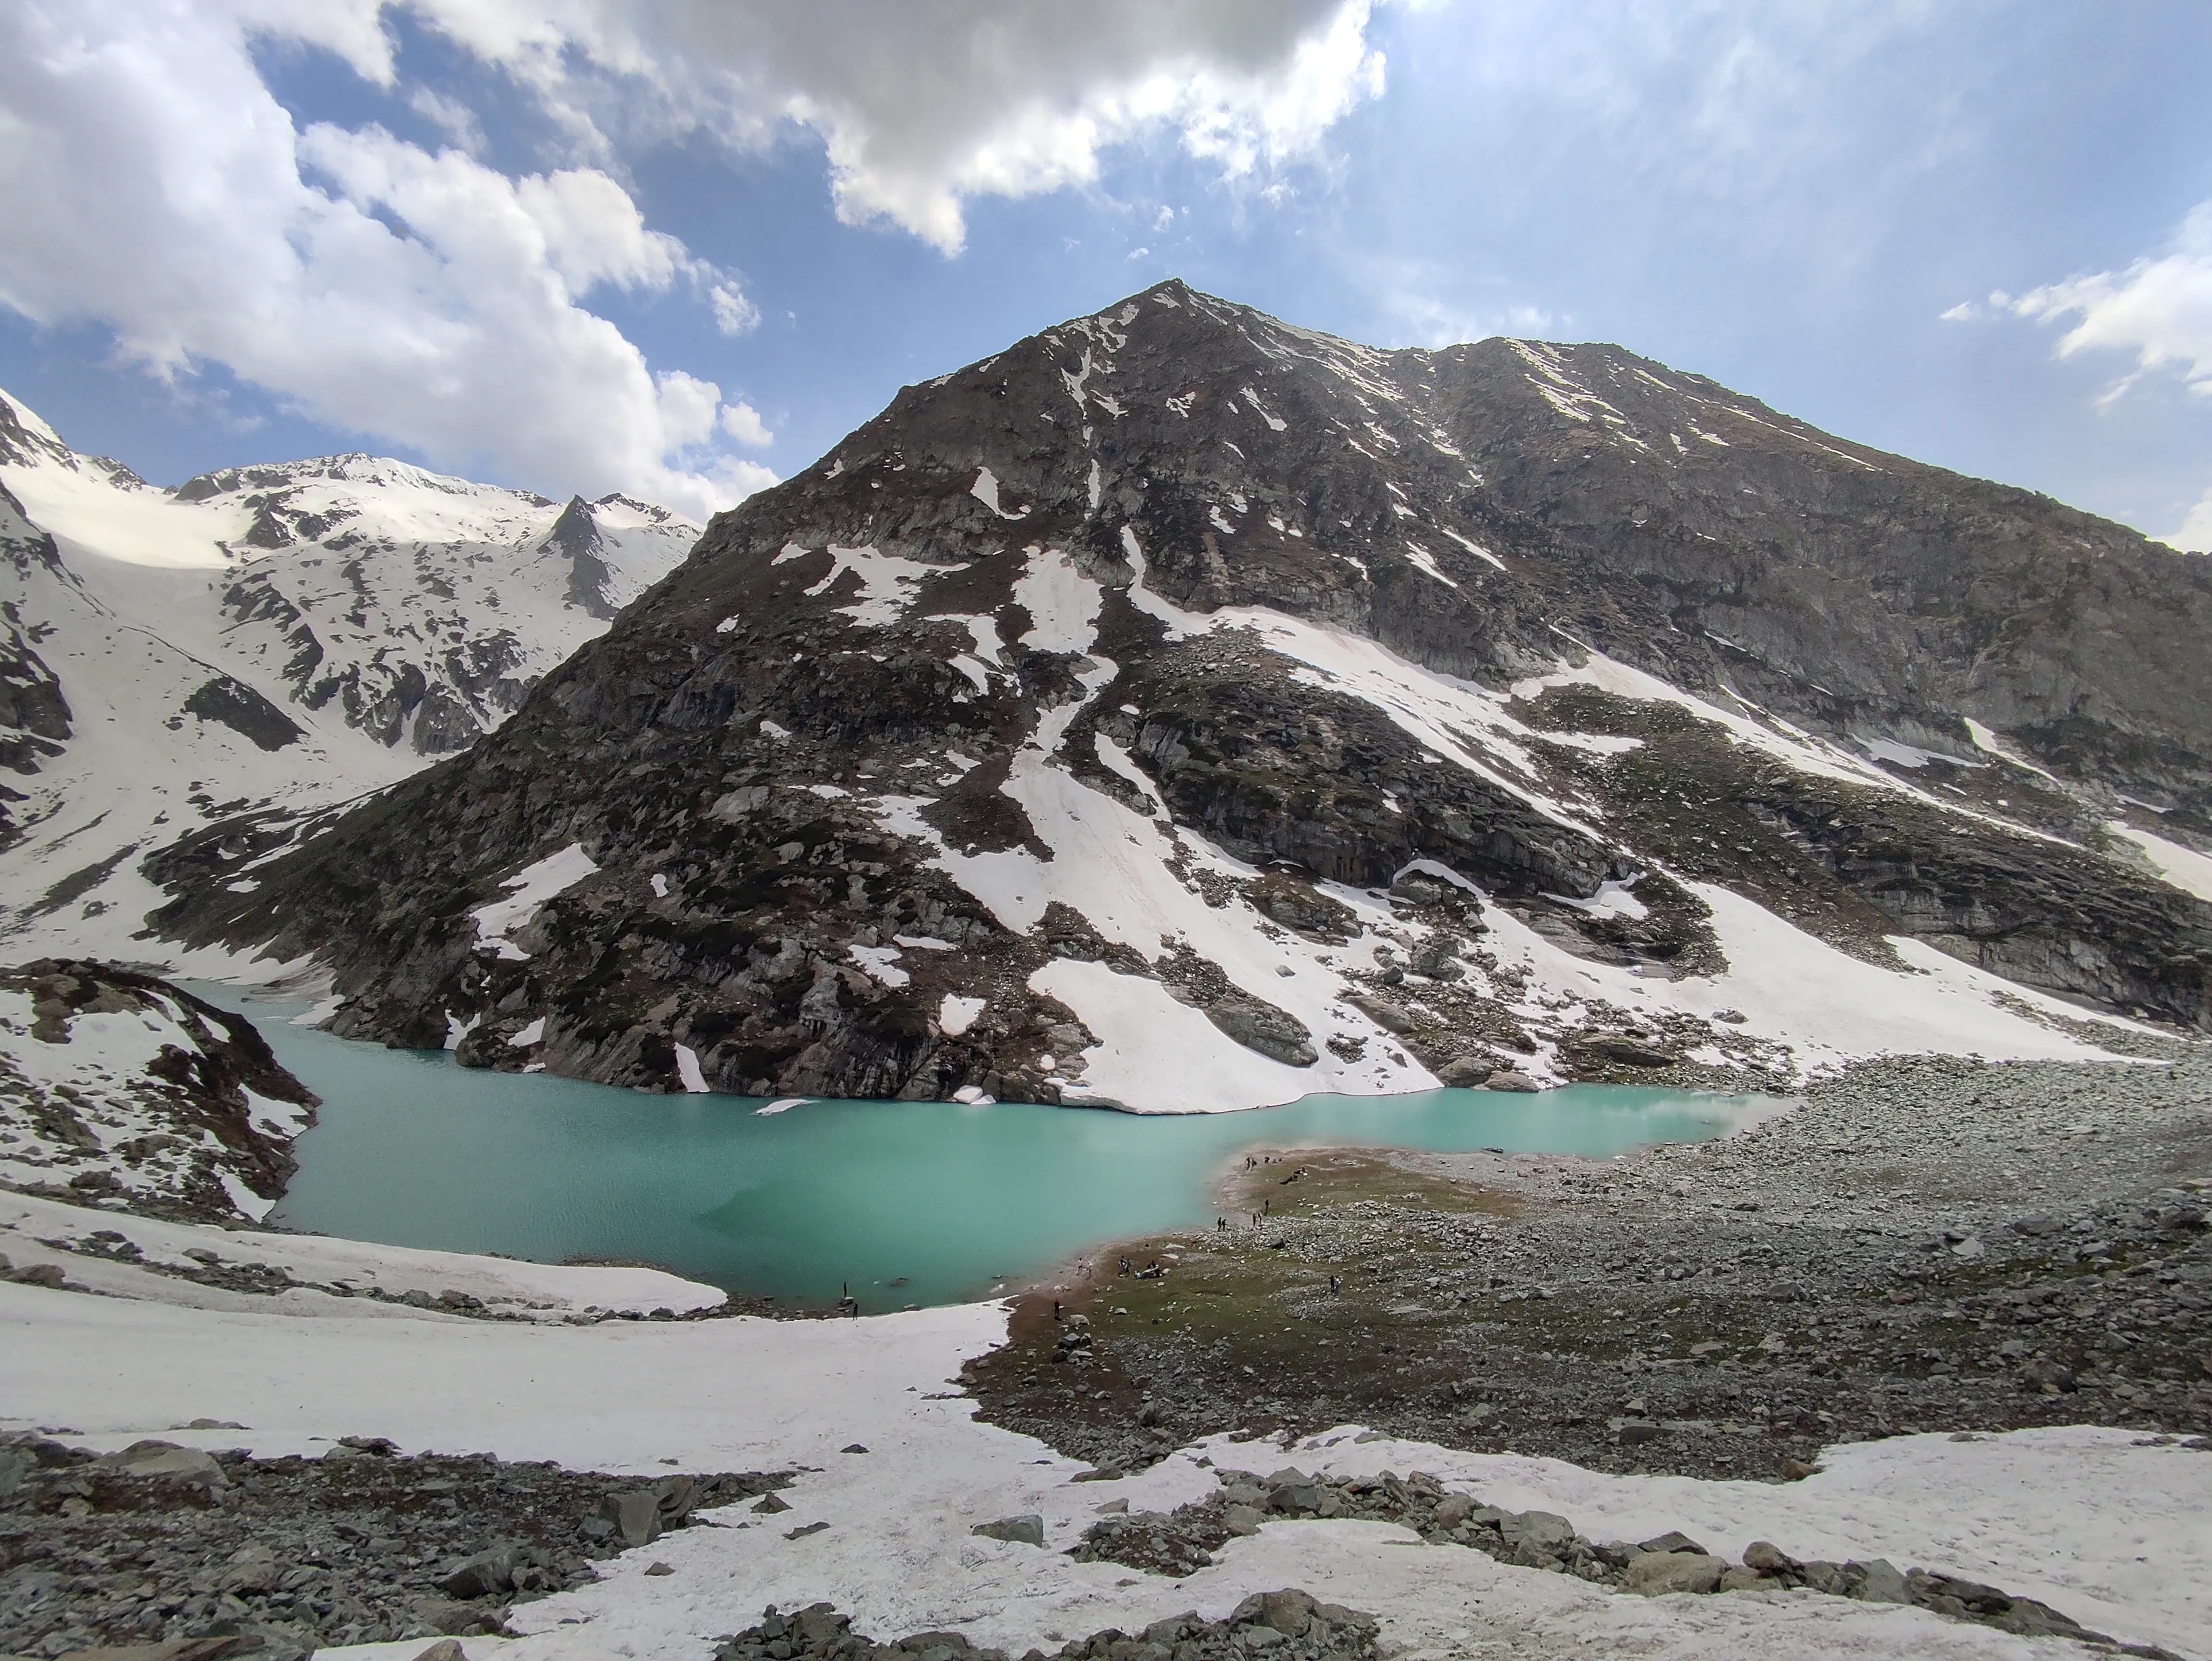
[[[2203,560],[1619,347],[1164,283],[907,387],[250,880],[157,863],[157,927],[670,1090],[2081,1055],[2212,1022],[2208,630]]]

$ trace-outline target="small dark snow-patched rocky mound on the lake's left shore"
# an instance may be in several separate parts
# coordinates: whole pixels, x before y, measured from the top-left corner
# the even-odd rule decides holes
[[[0,1188],[259,1223],[316,1095],[243,1015],[113,964],[0,973]]]

